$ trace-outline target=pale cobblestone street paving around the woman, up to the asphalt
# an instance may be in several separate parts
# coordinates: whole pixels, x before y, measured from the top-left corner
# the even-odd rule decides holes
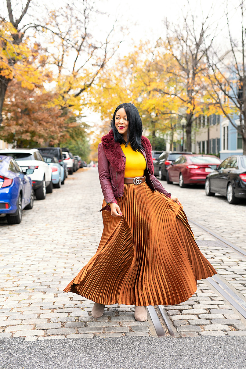
[[[227,234],[234,235],[230,241],[236,243],[236,239],[243,247],[243,206],[229,205],[222,197],[208,198],[201,188],[163,184],[179,197],[188,217],[215,227],[211,229],[226,239]],[[46,200],[35,201],[33,210],[24,211],[20,225],[0,223],[0,337],[25,337],[26,341],[157,337],[149,316],[143,323],[134,320],[133,306],[108,306],[103,317],[94,319],[92,301],[62,292],[95,254],[102,234],[98,213],[102,200],[97,169],[83,169]],[[229,233],[224,234],[224,228]],[[199,228],[192,226],[192,230],[201,251],[245,299],[246,258]],[[207,280],[198,282],[188,301],[164,310],[176,336],[246,335],[245,320]]]

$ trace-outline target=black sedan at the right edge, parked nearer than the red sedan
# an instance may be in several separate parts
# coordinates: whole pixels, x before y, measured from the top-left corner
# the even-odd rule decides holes
[[[229,204],[246,199],[246,155],[232,155],[209,173],[205,182],[205,193],[219,193],[227,197]]]

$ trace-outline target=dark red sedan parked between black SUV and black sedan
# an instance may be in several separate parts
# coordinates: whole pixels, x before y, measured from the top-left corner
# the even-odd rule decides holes
[[[216,169],[220,163],[221,159],[213,155],[181,155],[168,166],[167,183],[178,182],[180,187],[186,187],[187,184],[203,184],[208,173]]]

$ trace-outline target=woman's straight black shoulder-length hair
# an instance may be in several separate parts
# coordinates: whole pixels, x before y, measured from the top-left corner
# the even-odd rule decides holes
[[[115,116],[116,116],[117,111],[121,108],[124,108],[126,112],[126,116],[127,116],[127,121],[128,121],[127,142],[124,140],[122,134],[120,134],[117,131],[117,128],[115,127]],[[142,121],[141,121],[141,118],[140,118],[140,115],[139,115],[139,112],[136,106],[134,106],[131,103],[123,103],[117,106],[113,114],[113,118],[110,122],[110,125],[112,127],[116,142],[119,142],[120,144],[124,143],[126,146],[130,143],[131,148],[134,151],[140,151],[140,150],[144,151],[144,148],[141,145],[143,124],[142,124]]]

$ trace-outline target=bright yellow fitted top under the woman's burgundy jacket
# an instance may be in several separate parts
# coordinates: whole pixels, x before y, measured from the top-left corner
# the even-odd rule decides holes
[[[120,146],[126,156],[125,177],[143,176],[144,169],[146,169],[146,160],[143,154],[139,151],[134,151],[130,144],[128,144],[127,147],[124,144],[121,144]]]

